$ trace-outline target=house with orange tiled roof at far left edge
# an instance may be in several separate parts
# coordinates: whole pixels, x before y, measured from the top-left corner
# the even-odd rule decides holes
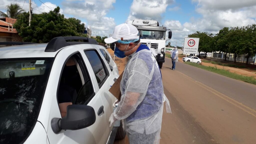
[[[0,18],[0,42],[22,42],[17,30],[13,28],[15,22],[14,18]]]

